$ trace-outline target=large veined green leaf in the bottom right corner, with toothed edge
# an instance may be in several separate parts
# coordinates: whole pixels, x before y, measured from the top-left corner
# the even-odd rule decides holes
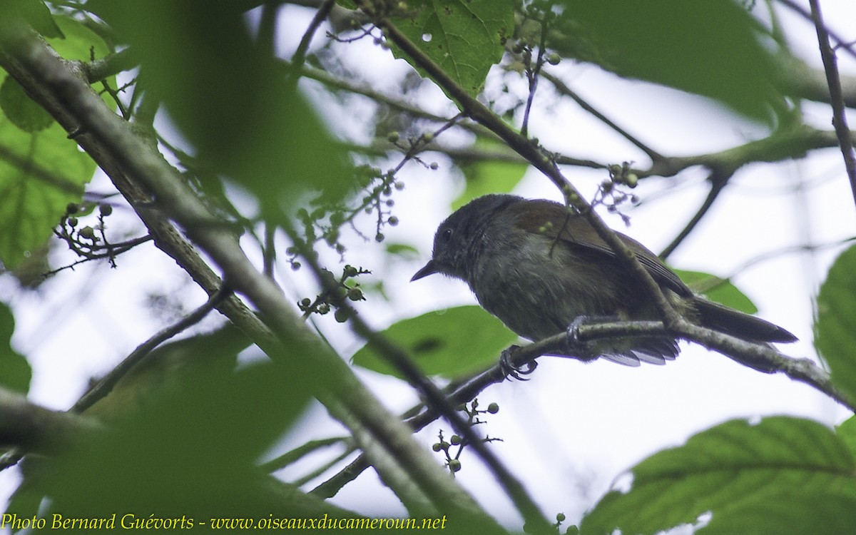
[[[852,533],[856,463],[824,425],[777,416],[732,420],[633,468],[627,493],[611,490],[582,533],[656,533],[695,524],[699,535]]]

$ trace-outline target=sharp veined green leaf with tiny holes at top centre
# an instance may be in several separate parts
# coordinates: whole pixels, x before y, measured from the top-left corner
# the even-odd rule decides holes
[[[475,97],[484,87],[490,67],[502,59],[502,45],[514,32],[510,0],[408,0],[407,18],[395,26],[414,45]],[[413,60],[392,46],[425,76]]]

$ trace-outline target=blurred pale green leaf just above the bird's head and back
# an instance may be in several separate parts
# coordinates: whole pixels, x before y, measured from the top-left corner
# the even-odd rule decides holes
[[[480,149],[498,149],[507,146],[496,140],[479,138],[474,146]],[[485,160],[481,162],[461,163],[467,187],[452,201],[452,211],[461,208],[476,197],[488,193],[508,193],[520,182],[528,169],[526,163],[500,162]]]

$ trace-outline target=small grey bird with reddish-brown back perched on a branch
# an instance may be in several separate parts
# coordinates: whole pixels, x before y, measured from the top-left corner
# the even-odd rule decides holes
[[[760,318],[694,294],[657,255],[616,233],[687,319],[749,342],[794,342]],[[550,200],[484,195],[437,229],[431,260],[411,281],[442,273],[466,281],[479,304],[518,335],[539,341],[591,319],[659,320],[657,306],[586,217]],[[579,344],[577,344],[579,345]],[[674,360],[669,336],[628,336],[569,348],[581,360],[603,357],[627,366]],[[769,366],[758,363],[758,370]]]

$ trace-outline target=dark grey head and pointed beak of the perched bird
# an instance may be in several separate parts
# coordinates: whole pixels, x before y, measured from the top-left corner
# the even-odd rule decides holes
[[[415,281],[433,273],[467,280],[467,259],[473,240],[484,233],[484,228],[497,212],[522,200],[522,197],[516,195],[491,194],[473,199],[459,208],[440,223],[434,235],[431,260],[410,280]]]

